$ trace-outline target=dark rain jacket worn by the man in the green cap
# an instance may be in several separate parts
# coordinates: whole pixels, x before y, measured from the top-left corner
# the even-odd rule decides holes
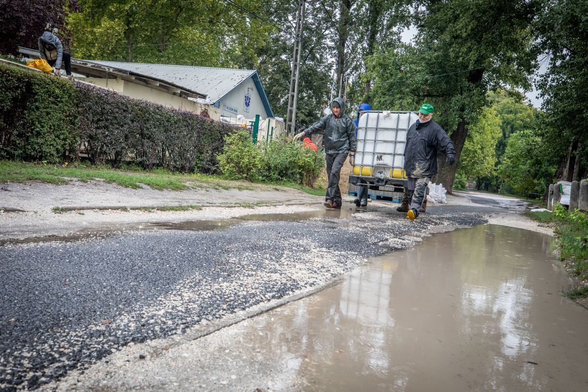
[[[410,126],[406,134],[405,170],[410,177],[432,177],[437,174],[437,150],[455,158],[455,148],[445,130],[430,120]]]

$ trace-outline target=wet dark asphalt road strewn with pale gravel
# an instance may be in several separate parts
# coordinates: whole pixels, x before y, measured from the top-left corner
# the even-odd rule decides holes
[[[392,206],[0,246],[0,390],[35,389],[128,344],[320,287],[491,207]],[[173,227],[172,227],[173,228]],[[187,229],[187,230],[186,230]]]

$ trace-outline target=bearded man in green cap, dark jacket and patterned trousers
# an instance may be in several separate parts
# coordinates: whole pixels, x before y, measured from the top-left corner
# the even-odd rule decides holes
[[[405,172],[408,177],[408,196],[412,199],[406,217],[415,220],[419,216],[431,177],[437,174],[437,150],[447,156],[447,163],[455,163],[455,148],[447,133],[432,120],[435,108],[423,103],[419,119],[406,133]]]

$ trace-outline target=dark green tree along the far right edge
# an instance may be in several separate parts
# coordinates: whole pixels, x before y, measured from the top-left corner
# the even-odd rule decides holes
[[[588,3],[543,1],[539,15],[539,48],[549,61],[540,78],[546,124],[542,139],[546,159],[559,165],[555,179],[588,176]]]

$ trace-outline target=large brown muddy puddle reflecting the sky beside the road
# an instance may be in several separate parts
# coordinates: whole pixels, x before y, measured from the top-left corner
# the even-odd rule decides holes
[[[503,226],[436,234],[233,327],[270,390],[586,391],[588,311],[552,250]]]

